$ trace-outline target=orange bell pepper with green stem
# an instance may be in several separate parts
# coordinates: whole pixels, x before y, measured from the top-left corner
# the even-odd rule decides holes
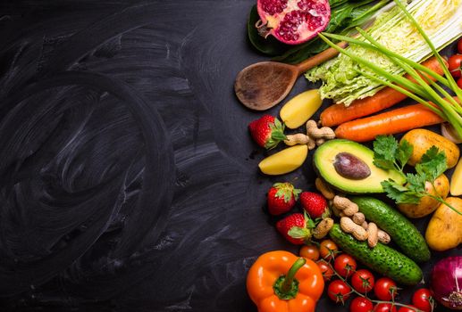
[[[266,252],[248,270],[248,295],[259,312],[314,312],[323,289],[315,262],[289,251]]]

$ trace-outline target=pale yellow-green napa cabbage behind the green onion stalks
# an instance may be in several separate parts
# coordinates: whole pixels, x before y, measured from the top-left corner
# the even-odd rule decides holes
[[[462,35],[462,23],[459,22],[462,14],[461,3],[460,0],[417,0],[408,5],[408,10],[428,34],[433,45],[440,50]],[[366,33],[387,49],[411,61],[421,62],[431,55],[430,47],[399,7],[383,13]],[[346,50],[360,55],[391,74],[404,72],[399,65],[377,51],[360,45],[351,45]],[[374,95],[382,88],[382,84],[374,78],[362,75],[363,71],[377,76],[367,65],[341,54],[340,57],[309,70],[306,78],[313,82],[323,80],[323,86],[319,89],[321,97],[348,106],[354,100]]]

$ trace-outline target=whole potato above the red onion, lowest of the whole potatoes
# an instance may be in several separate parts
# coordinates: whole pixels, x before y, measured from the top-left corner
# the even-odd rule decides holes
[[[448,203],[462,212],[462,199],[448,197]],[[441,204],[433,214],[425,232],[428,246],[437,251],[449,250],[458,247],[462,242],[462,215]]]

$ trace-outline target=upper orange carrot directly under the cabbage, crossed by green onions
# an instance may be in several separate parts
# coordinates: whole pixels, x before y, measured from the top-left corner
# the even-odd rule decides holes
[[[443,74],[441,65],[435,57],[422,63],[422,65],[433,70],[438,75]],[[409,78],[408,75],[405,77],[411,81],[415,81],[413,78]],[[425,75],[425,77],[434,81],[434,78],[428,75]],[[407,95],[386,86],[372,96],[354,101],[348,107],[341,103],[331,105],[321,113],[321,123],[326,127],[338,126],[346,121],[358,119],[373,114],[374,112],[387,109],[406,98]]]

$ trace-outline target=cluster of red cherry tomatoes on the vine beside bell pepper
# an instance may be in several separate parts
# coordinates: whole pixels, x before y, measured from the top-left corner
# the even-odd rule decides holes
[[[303,246],[300,256],[316,261],[324,281],[330,282],[327,295],[332,301],[345,304],[355,293],[361,294],[349,303],[350,312],[415,312],[416,308],[424,312],[433,311],[432,293],[426,288],[414,292],[412,305],[405,306],[398,302],[393,304],[398,295],[397,284],[388,277],[375,280],[369,270],[357,269],[356,259],[340,253],[338,246],[331,240],[323,240],[319,248],[316,245]],[[375,300],[371,300],[369,294],[374,294]]]

